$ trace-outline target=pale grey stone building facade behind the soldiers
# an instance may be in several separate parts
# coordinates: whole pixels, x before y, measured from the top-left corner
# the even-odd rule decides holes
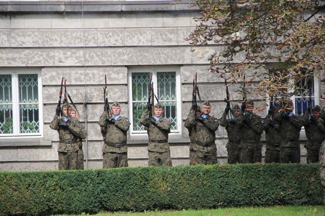
[[[88,130],[83,141],[85,168],[101,168],[103,141],[97,122],[103,111],[104,75],[107,75],[109,102],[117,100],[121,104],[121,115],[128,116],[133,124],[136,119],[133,114],[139,112],[134,107],[137,102],[145,103],[134,99],[136,95],[131,93],[133,80],[141,82],[139,76],[132,76],[137,72],[148,76],[153,72],[156,82],[167,79],[163,84],[174,88],[173,98],[164,98],[165,103],[171,104],[169,114],[176,113],[172,115],[177,123],[169,135],[171,158],[173,166],[188,164],[189,138],[183,124],[191,106],[196,72],[201,99],[212,104],[211,115],[220,118],[225,107],[223,79],[207,71],[208,56],[221,50],[222,45],[211,43],[191,52],[191,45],[184,38],[197,24],[193,17],[199,15],[199,10],[188,7],[188,1],[171,3],[0,1],[0,76],[9,76],[12,89],[16,89],[12,90],[13,102],[3,98],[0,102],[1,115],[11,116],[14,128],[0,134],[0,170],[57,170],[58,136],[49,128],[49,123],[55,114],[62,76],[79,111],[80,121]],[[164,72],[170,72],[174,78],[170,80],[170,74],[159,78]],[[21,74],[36,75],[23,78]],[[22,88],[29,91],[31,82],[28,80],[32,77],[32,88],[37,92],[36,96],[30,96],[32,102],[15,99],[22,94],[16,86],[27,82]],[[4,89],[7,82],[3,79],[1,85]],[[230,96],[240,101],[235,88],[235,85],[230,88]],[[155,91],[162,95],[158,89],[156,86]],[[23,107],[24,103],[29,105]],[[36,108],[32,108],[34,106]],[[27,110],[26,114],[19,114],[21,110]],[[168,115],[167,110],[165,113]],[[265,116],[266,111],[259,115]],[[33,123],[26,116],[33,116]],[[21,120],[24,117],[26,121]],[[19,124],[23,122],[33,125],[31,131],[22,130],[21,125],[19,131]],[[3,122],[1,124],[3,126]],[[147,135],[134,124],[131,127],[127,141],[128,164],[146,166]],[[303,143],[304,133],[301,137]],[[220,164],[227,162],[226,142],[226,131],[219,127],[216,144]],[[305,155],[302,145],[301,154]],[[301,160],[304,162],[304,157]]]

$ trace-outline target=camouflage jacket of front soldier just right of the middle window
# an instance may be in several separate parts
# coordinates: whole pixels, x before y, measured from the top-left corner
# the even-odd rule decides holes
[[[219,122],[217,118],[208,115],[206,119],[204,119],[203,123],[201,123],[198,120],[195,120],[195,111],[190,110],[184,126],[187,128],[187,130],[193,129],[195,133],[193,136],[193,142],[209,144],[214,143],[215,141],[215,131],[219,127]],[[199,152],[212,152],[216,151],[216,145],[214,144],[204,147],[195,143],[193,150]]]

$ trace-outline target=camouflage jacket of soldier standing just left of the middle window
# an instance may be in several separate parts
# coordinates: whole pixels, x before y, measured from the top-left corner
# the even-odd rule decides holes
[[[99,118],[98,122],[100,126],[101,135],[104,140],[104,145],[102,147],[102,152],[115,152],[123,153],[127,152],[127,146],[113,147],[107,144],[126,144],[127,131],[130,127],[130,122],[125,117],[119,117],[114,124],[106,121],[106,112],[104,111]]]

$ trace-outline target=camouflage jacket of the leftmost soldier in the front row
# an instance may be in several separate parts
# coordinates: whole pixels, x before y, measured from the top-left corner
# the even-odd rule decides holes
[[[49,127],[53,130],[57,130],[58,138],[60,140],[58,144],[58,152],[75,152],[79,150],[78,140],[86,138],[87,132],[84,127],[80,124],[77,118],[69,118],[66,123],[70,124],[69,128],[62,128],[58,126],[58,121],[65,122],[63,118],[57,119],[54,116]],[[66,143],[66,141],[76,141],[75,143]]]

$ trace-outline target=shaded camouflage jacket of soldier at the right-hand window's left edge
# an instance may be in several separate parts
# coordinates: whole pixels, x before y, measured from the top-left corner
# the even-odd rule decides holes
[[[274,121],[279,124],[281,131],[280,147],[299,147],[300,130],[303,126],[302,116],[292,114],[289,119],[284,119],[281,114],[274,116]],[[292,141],[291,141],[292,140]]]

